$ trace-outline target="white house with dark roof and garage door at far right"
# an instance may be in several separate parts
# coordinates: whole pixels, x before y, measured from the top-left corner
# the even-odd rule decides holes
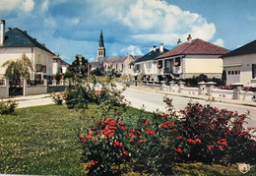
[[[226,85],[256,87],[256,40],[223,56]]]

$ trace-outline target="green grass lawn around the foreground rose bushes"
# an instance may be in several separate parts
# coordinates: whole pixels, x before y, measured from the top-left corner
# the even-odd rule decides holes
[[[96,107],[89,105],[89,115],[96,114]],[[134,123],[133,118],[139,113],[140,110],[130,108],[127,116],[131,118],[126,122]],[[81,175],[81,148],[75,131],[81,125],[85,125],[85,119],[80,112],[58,105],[21,108],[12,115],[0,115],[0,173]],[[214,168],[217,169],[212,172]],[[236,168],[181,165],[174,172],[176,175],[242,175]]]

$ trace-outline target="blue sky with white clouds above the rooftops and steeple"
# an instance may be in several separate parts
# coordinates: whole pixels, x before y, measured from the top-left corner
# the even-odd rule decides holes
[[[100,30],[106,56],[144,55],[193,38],[233,50],[256,39],[255,0],[0,0],[7,28],[71,63],[96,61]]]

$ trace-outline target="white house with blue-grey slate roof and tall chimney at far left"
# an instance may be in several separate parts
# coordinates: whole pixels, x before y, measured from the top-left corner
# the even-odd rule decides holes
[[[50,79],[52,72],[52,53],[40,44],[35,38],[32,38],[26,30],[18,28],[8,28],[5,32],[5,21],[1,20],[1,38],[0,38],[0,65],[8,60],[21,58],[25,53],[31,59],[33,71],[31,71],[32,80]],[[0,79],[3,78],[6,68],[0,67]]]

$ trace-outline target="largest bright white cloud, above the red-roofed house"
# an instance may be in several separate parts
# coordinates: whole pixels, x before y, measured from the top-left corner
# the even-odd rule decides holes
[[[216,32],[215,25],[209,24],[201,15],[182,11],[178,6],[165,1],[99,1],[95,2],[97,12],[128,27],[129,32],[135,34],[133,38],[147,41],[161,39],[160,42],[172,44],[178,38],[186,40],[189,33],[193,38],[210,40]]]

